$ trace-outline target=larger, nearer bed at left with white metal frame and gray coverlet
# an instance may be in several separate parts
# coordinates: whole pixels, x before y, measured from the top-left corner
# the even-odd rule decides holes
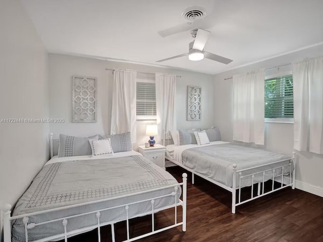
[[[52,141],[51,153],[52,153]],[[4,213],[5,242],[57,241],[127,221],[133,241],[176,226],[186,230],[186,177],[183,183],[135,151],[111,156],[53,156],[19,199]],[[181,188],[183,187],[183,189]],[[180,197],[183,197],[181,200]],[[177,207],[183,216],[178,221]],[[154,214],[175,208],[174,224],[155,229]],[[130,237],[129,219],[150,214],[151,232]]]

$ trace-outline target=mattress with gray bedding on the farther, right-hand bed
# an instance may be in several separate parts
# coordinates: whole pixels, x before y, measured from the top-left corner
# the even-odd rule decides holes
[[[288,165],[291,157],[286,154],[271,152],[263,149],[255,149],[240,145],[234,145],[229,142],[212,142],[208,145],[184,145],[178,146],[173,151],[174,160],[181,163],[183,166],[202,174],[212,180],[218,181],[226,187],[232,188],[233,180],[233,164],[237,165],[237,170],[247,169],[259,165],[264,165],[259,168],[253,168],[248,171],[242,171],[242,175],[251,174],[267,169],[272,169],[281,165]],[[181,162],[179,162],[179,160]],[[276,161],[281,161],[275,164],[269,164]],[[294,167],[291,167],[292,170]],[[275,169],[275,176],[281,175],[282,168]],[[290,166],[284,169],[284,175],[290,173]],[[266,171],[265,179],[273,177],[273,172]],[[262,182],[262,173],[255,174],[253,183]],[[237,173],[237,188],[239,188],[239,174]],[[241,179],[241,187],[252,185],[251,176],[246,176]]]

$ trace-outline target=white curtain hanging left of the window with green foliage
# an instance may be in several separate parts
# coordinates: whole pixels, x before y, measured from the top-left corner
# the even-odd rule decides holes
[[[233,77],[233,140],[264,144],[264,69]]]

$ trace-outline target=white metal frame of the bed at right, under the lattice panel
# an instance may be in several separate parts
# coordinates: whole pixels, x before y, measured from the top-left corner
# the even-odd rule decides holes
[[[163,139],[163,145],[164,146],[166,145],[166,140],[168,141],[168,144],[169,144],[170,135],[171,135],[171,133],[164,131],[164,136],[163,136],[163,138],[164,138]],[[203,174],[200,174],[200,173],[198,173],[198,172],[184,166],[182,163],[179,163],[179,162],[173,160],[167,154],[166,154],[166,158],[168,160],[170,160],[171,162],[175,163],[176,165],[183,167],[187,171],[192,172],[192,184],[194,184],[194,175],[198,175],[198,176],[210,181],[211,183],[213,183],[215,185],[218,185],[219,187],[224,188],[224,189],[228,190],[229,192],[231,192],[232,193],[232,207],[231,207],[231,212],[232,213],[236,213],[236,207],[237,206],[242,205],[242,204],[247,203],[247,202],[250,202],[250,201],[255,200],[257,198],[261,198],[261,197],[263,197],[265,195],[271,194],[273,192],[279,191],[279,190],[287,188],[287,187],[292,187],[292,189],[295,189],[295,169],[296,169],[296,165],[295,165],[296,164],[296,152],[295,151],[293,152],[292,158],[279,160],[279,161],[275,161],[275,162],[271,162],[271,163],[267,163],[267,164],[263,164],[263,165],[253,166],[253,167],[246,168],[246,169],[237,170],[237,165],[233,164],[232,165],[232,171],[233,171],[232,188],[227,187],[224,184],[220,183],[219,181],[213,180],[213,179],[211,179],[211,178],[209,178],[209,177],[207,177],[207,176],[205,176]],[[278,163],[283,162],[283,161],[289,161],[289,164],[286,164],[286,165],[279,165],[278,164]],[[254,173],[250,173],[250,174],[247,174],[247,175],[245,175],[245,174],[242,175],[243,171],[245,172],[245,171],[248,171],[248,170],[252,170],[252,169],[255,169],[255,168],[261,168],[263,166],[272,165],[272,164],[278,164],[278,166],[275,166],[274,168],[271,168],[271,169],[264,169],[264,170],[261,170],[259,172],[254,172]],[[294,166],[293,171],[292,171],[292,165]],[[290,170],[289,175],[284,175],[283,171],[286,168],[287,169],[289,168],[289,170]],[[282,174],[275,175],[275,172],[278,169],[282,169]],[[268,192],[264,192],[264,182],[266,181],[264,176],[265,176],[266,172],[272,172],[273,173],[272,190],[268,191]],[[257,187],[258,187],[257,196],[253,196],[253,190],[254,190],[254,187],[255,187],[254,186],[255,184],[253,183],[253,178],[254,178],[255,174],[260,174],[260,173],[262,173],[262,183],[257,183]],[[239,175],[238,181],[237,181],[237,178],[236,178],[237,174]],[[248,176],[250,176],[251,179],[252,179],[251,197],[250,197],[250,199],[241,201],[241,188],[242,188],[241,187],[241,180],[243,178],[245,178],[245,177],[248,177]],[[279,188],[274,187],[275,181],[279,181],[281,183],[281,186]],[[239,183],[239,186],[237,188],[238,183]],[[262,184],[262,186],[261,186],[261,184]],[[233,188],[237,188],[237,189],[233,189]],[[237,190],[239,190],[238,202],[236,200]]]

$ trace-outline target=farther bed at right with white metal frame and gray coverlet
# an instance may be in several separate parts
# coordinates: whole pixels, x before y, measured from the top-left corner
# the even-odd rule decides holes
[[[169,145],[164,134],[166,158],[173,163],[232,193],[232,213],[236,207],[286,187],[295,188],[295,153],[292,157],[263,149],[213,141],[205,145]],[[272,180],[270,190],[265,181]],[[275,181],[280,186],[275,186]],[[242,188],[250,187],[250,198],[242,201]],[[256,194],[255,194],[256,192]]]

